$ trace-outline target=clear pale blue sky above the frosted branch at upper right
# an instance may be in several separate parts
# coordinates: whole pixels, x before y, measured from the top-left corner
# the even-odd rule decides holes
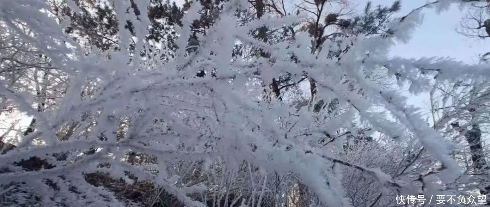
[[[391,4],[393,0],[372,0],[375,4]],[[359,6],[366,0],[358,0]],[[400,15],[425,4],[426,0],[402,0]],[[466,10],[452,5],[448,11],[437,15],[434,9],[424,10],[424,22],[413,34],[407,44],[398,44],[392,48],[392,55],[402,57],[449,56],[467,63],[477,63],[478,54],[489,52],[489,41],[467,38],[458,32],[460,20]]]

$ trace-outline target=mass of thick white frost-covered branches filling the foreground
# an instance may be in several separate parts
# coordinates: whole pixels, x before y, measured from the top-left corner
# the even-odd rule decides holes
[[[35,67],[29,50],[50,61],[34,83],[28,80],[37,72],[0,78],[2,103],[33,117],[30,131],[1,151],[5,206],[354,206],[344,176],[381,189],[365,206],[390,204],[402,193],[444,195],[463,173],[449,154],[454,146],[397,88],[366,73],[384,71],[413,94],[430,91],[434,80],[490,75],[488,65],[388,57],[396,41],[409,40],[423,8],[446,1],[393,19],[379,35],[324,41],[319,52],[300,30],[276,44],[254,38],[258,28],[294,26],[299,17],[239,24],[237,14],[249,7],[243,0],[224,2],[206,34],[190,44],[190,26],[203,8],[191,3],[175,26],[178,49],[168,62],[140,55],[154,44],[145,41],[153,1],[109,0],[119,23],[114,51],[75,41],[64,32],[69,20],[53,17],[44,0],[0,2],[1,44],[16,47],[12,54],[24,68]],[[76,2],[67,4],[81,12]],[[342,58],[322,58],[347,43]],[[267,55],[236,58],[239,44]],[[250,87],[269,90],[280,74],[314,82],[306,95],[312,103],[294,107],[287,97],[257,97],[262,91]],[[40,103],[48,92],[55,98]],[[409,147],[424,162],[397,163]],[[389,148],[400,155],[385,155]]]

